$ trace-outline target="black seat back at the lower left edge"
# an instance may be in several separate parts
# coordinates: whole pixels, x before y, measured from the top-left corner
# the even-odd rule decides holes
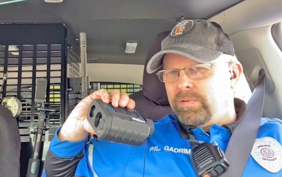
[[[21,137],[17,120],[0,105],[0,176],[20,176]]]

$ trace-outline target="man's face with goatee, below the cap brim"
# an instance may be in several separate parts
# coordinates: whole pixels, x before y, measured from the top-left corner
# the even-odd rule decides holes
[[[194,64],[199,63],[176,54],[167,53],[163,57],[164,69],[183,69]],[[229,111],[229,102],[234,104],[230,77],[228,63],[214,66],[211,75],[197,80],[181,70],[177,82],[165,83],[175,115],[186,125],[205,127],[216,123],[214,115],[224,116]]]

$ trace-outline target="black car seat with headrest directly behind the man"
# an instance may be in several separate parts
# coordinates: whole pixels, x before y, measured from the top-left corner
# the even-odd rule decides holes
[[[130,98],[136,103],[135,110],[143,118],[158,120],[164,115],[173,114],[169,106],[164,83],[156,75],[157,71],[152,74],[146,72],[149,60],[161,50],[161,42],[169,33],[170,31],[165,31],[155,37],[145,61],[142,90],[130,95]]]

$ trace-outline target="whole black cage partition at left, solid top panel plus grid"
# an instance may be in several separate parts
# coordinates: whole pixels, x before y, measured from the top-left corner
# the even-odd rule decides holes
[[[23,105],[17,119],[22,142],[21,176],[25,176],[32,152],[30,132],[36,131],[37,126],[36,78],[47,78],[46,101],[57,110],[48,115],[51,121],[46,121],[46,127],[58,126],[65,120],[67,26],[64,23],[0,24],[0,31],[0,86],[3,74],[8,72],[2,96],[16,96]],[[60,101],[52,100],[55,95]]]

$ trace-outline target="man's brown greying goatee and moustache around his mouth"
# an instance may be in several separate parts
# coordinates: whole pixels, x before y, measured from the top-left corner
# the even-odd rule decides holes
[[[181,98],[195,99],[198,104],[180,107],[179,99]],[[212,119],[212,111],[207,99],[193,91],[177,93],[172,100],[172,108],[178,120],[185,125],[198,127]]]

